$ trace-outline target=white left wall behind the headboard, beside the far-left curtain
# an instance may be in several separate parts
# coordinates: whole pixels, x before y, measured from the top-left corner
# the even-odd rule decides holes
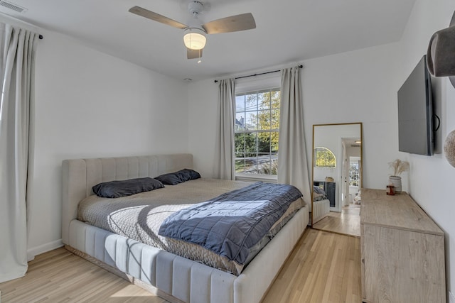
[[[188,152],[188,85],[40,31],[29,255],[60,245],[66,158]]]

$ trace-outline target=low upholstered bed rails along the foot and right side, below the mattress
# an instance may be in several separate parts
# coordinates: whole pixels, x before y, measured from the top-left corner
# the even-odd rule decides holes
[[[76,219],[68,245],[183,302],[254,303],[267,292],[308,220],[307,207],[297,211],[238,277]]]

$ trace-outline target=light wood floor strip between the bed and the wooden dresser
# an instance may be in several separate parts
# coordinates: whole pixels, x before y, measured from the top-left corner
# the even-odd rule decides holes
[[[359,303],[360,238],[307,229],[262,303]]]

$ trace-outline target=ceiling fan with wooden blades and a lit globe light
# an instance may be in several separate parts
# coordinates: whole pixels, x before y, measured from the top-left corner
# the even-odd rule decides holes
[[[256,28],[255,18],[252,13],[242,13],[240,15],[220,18],[208,23],[200,24],[198,16],[202,13],[204,6],[210,6],[208,3],[201,1],[189,1],[188,11],[193,16],[192,20],[186,25],[175,21],[166,16],[162,16],[154,11],[141,8],[140,6],[133,6],[129,9],[130,13],[135,13],[139,16],[149,18],[153,21],[164,23],[174,28],[183,29],[183,43],[186,46],[186,56],[188,59],[196,59],[202,57],[202,50],[205,46],[205,35],[213,33],[232,33],[235,31],[245,31]]]

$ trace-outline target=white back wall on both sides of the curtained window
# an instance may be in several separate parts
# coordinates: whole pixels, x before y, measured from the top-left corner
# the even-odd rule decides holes
[[[398,43],[393,43],[303,62],[301,78],[309,163],[313,124],[363,122],[364,186],[385,189],[388,162],[399,155],[395,89],[399,48]],[[194,82],[188,90],[190,150],[198,167],[211,174],[218,85],[213,80]]]

